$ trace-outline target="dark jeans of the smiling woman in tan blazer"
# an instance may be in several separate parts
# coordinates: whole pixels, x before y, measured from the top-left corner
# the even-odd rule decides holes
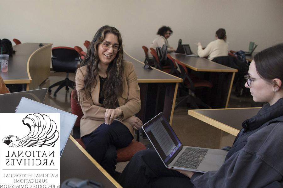
[[[112,177],[117,165],[117,148],[128,146],[133,139],[129,129],[119,121],[111,125],[101,124],[95,131],[82,137],[86,151]]]

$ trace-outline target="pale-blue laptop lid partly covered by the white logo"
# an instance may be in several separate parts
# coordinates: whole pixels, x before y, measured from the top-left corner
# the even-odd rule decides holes
[[[16,113],[60,113],[60,156],[78,116],[22,97]]]

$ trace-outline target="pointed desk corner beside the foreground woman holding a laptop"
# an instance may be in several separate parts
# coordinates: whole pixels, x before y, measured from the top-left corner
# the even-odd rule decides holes
[[[188,114],[209,125],[237,136],[246,119],[256,115],[261,107],[189,110]]]

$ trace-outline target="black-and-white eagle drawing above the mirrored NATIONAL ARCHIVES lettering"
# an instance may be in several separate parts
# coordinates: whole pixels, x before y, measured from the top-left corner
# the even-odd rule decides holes
[[[13,135],[3,138],[9,147],[53,147],[59,138],[56,123],[47,115],[29,114],[23,119],[23,124],[30,128],[30,133],[21,139]]]

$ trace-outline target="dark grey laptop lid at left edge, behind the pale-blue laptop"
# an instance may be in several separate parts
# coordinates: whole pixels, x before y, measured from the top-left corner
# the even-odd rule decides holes
[[[20,91],[0,95],[0,113],[15,113],[15,110],[22,97],[43,103],[48,89],[36,89],[30,91]]]

